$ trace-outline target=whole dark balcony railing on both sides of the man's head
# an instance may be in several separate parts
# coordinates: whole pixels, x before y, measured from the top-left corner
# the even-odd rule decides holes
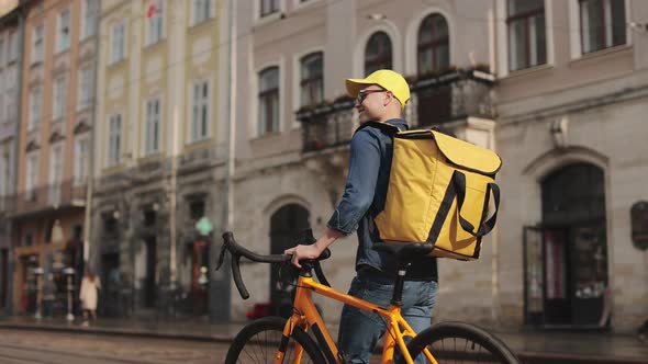
[[[410,86],[412,100],[405,107],[405,118],[414,127],[429,127],[468,116],[493,118],[493,75],[472,69],[420,77]],[[353,121],[354,104],[353,99],[340,98],[334,103],[298,111],[302,150],[310,152],[347,144],[357,126]]]

